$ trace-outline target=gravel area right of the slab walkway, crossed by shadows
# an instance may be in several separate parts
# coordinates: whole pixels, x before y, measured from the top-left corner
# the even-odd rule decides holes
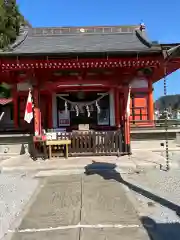
[[[180,171],[124,175],[132,202],[153,240],[180,239]],[[135,197],[135,198],[134,198]]]

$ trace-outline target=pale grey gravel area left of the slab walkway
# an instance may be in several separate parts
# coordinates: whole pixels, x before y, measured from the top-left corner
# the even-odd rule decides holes
[[[7,233],[37,186],[38,180],[24,175],[0,175],[0,239]]]

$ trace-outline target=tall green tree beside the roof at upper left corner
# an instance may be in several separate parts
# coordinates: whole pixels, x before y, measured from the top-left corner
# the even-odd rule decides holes
[[[16,0],[0,0],[0,48],[6,49],[17,36],[24,17],[20,14]]]

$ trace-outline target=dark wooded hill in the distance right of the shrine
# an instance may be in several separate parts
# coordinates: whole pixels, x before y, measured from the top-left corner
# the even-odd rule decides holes
[[[180,109],[180,94],[162,96],[155,101],[154,107],[160,110],[164,110],[169,107],[172,110]]]

